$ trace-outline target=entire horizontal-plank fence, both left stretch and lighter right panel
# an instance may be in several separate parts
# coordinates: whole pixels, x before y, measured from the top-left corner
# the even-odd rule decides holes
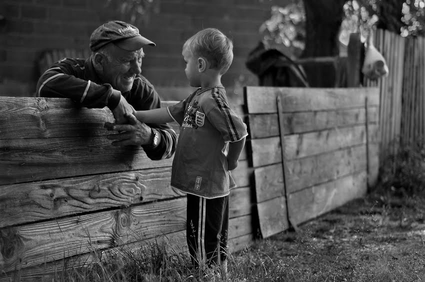
[[[232,173],[232,252],[258,229],[267,237],[287,218],[296,226],[362,196],[375,179],[376,88],[247,87],[245,101],[235,107],[250,136]],[[0,97],[0,281],[152,241],[185,251],[186,198],[169,186],[171,159],[111,146],[112,120],[67,99]]]

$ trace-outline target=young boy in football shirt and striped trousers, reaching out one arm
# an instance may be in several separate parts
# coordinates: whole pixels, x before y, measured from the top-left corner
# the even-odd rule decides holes
[[[221,265],[224,271],[228,194],[235,187],[229,171],[236,168],[247,135],[221,85],[232,49],[230,39],[217,29],[197,32],[184,43],[182,55],[190,86],[199,88],[176,105],[135,113],[145,123],[180,124],[171,186],[187,193],[186,236],[192,264]]]

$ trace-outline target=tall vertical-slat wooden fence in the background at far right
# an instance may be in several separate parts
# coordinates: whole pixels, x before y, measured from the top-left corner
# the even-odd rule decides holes
[[[379,29],[373,43],[386,59],[389,75],[364,85],[380,89],[381,150],[394,153],[400,143],[425,139],[425,38]]]

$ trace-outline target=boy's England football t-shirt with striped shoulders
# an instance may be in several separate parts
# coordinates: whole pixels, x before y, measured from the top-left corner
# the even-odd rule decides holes
[[[224,87],[199,88],[167,109],[181,126],[171,186],[207,199],[228,195],[235,184],[227,170],[227,143],[248,133],[242,119],[229,108]]]

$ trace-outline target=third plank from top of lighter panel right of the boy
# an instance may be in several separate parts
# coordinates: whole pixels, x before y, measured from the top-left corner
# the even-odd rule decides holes
[[[377,140],[377,125],[369,126],[369,142]],[[344,147],[364,144],[366,141],[365,126],[351,126],[321,130],[316,132],[286,135],[286,160],[303,158],[338,150]],[[250,140],[253,167],[265,166],[281,162],[279,137]]]

